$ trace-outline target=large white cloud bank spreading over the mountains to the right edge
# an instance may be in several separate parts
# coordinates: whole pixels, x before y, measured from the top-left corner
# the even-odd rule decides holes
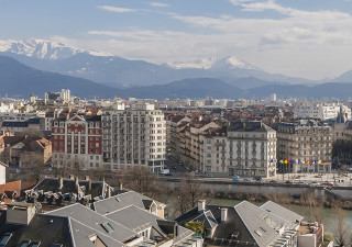
[[[243,11],[241,18],[165,13],[163,16],[179,22],[177,31],[153,26],[91,30],[68,42],[77,47],[156,64],[235,55],[271,72],[315,79],[351,69],[349,13],[288,8],[274,0],[231,0],[231,3]],[[267,10],[280,15],[245,15],[250,12],[255,16],[256,12]]]

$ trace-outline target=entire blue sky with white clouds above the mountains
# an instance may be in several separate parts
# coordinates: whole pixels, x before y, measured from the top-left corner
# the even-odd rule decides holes
[[[0,0],[0,40],[156,64],[235,56],[273,74],[352,69],[352,0]]]

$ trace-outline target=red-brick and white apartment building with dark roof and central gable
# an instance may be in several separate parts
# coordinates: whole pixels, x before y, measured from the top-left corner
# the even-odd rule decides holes
[[[102,168],[101,116],[74,115],[53,121],[53,166],[79,162],[81,169]]]

